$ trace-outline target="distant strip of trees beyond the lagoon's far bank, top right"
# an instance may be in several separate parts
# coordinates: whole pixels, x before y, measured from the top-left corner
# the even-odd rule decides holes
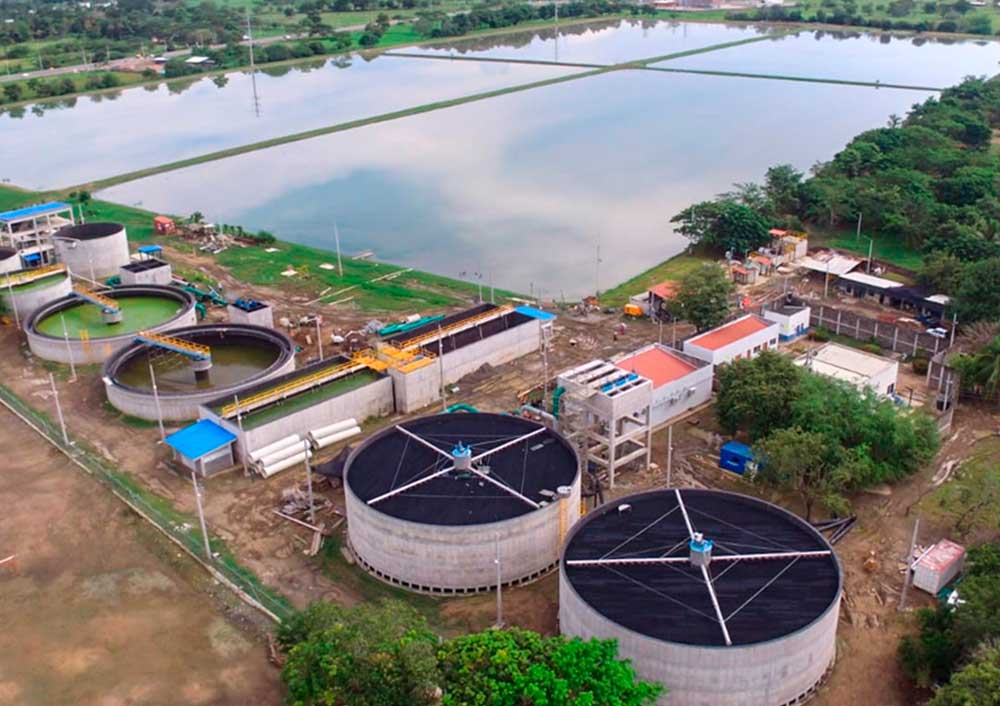
[[[856,0],[835,2],[826,0],[823,7],[813,13],[801,7],[769,5],[749,11],[726,14],[727,19],[747,22],[815,22],[818,24],[845,25],[849,27],[875,27],[888,30],[912,30],[916,32],[963,32],[966,34],[993,34],[993,21],[988,14],[972,12],[975,6],[968,0],[958,2],[915,2],[915,0],[893,0],[886,7],[887,17],[879,17],[874,3],[858,4]],[[926,14],[937,14],[938,18],[912,19],[922,10]]]

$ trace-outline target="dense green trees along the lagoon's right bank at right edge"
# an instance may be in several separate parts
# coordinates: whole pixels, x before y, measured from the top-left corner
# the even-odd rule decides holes
[[[964,321],[1000,318],[998,128],[1000,78],[967,78],[905,120],[861,133],[808,178],[772,167],[763,184],[737,185],[673,222],[693,241],[741,256],[767,243],[770,226],[850,227],[863,216],[877,238],[929,257],[928,279],[957,296]]]

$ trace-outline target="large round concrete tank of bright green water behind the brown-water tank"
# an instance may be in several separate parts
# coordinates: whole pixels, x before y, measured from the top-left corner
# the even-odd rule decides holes
[[[101,307],[76,295],[57,299],[24,322],[31,352],[57,363],[69,363],[71,355],[78,365],[103,363],[139,331],[161,333],[197,322],[194,298],[174,287],[117,287],[101,294],[118,303],[121,321],[105,323]]]

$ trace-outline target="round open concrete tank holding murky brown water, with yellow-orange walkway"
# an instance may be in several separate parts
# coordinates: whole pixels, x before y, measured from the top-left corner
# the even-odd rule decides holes
[[[208,346],[212,367],[207,376],[195,374],[191,360],[147,343],[135,342],[104,363],[108,401],[119,411],[155,420],[152,366],[160,414],[166,421],[198,416],[198,406],[238,395],[248,386],[295,369],[295,344],[274,329],[234,324],[206,324],[172,329],[172,338]]]

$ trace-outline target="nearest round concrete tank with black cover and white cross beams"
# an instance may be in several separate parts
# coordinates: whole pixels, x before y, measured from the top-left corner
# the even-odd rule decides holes
[[[639,676],[669,689],[664,704],[786,706],[833,666],[841,584],[830,544],[786,510],[656,490],[607,503],[570,533],[559,624],[616,639]]]

